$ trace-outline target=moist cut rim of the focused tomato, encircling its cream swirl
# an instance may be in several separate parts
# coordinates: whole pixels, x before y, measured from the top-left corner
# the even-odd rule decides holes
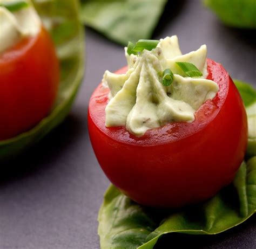
[[[95,98],[97,98],[97,96],[98,96],[98,95],[96,95],[97,92],[99,91],[100,88],[103,87],[102,82],[100,82],[100,84],[97,86],[97,88],[95,89],[95,91],[91,95],[91,98],[90,98],[90,101],[89,101],[89,107],[88,107],[88,115],[90,115],[91,120],[95,123],[95,126],[98,128],[99,132],[102,133],[105,137],[107,137],[108,139],[111,139],[113,141],[118,141],[120,143],[129,144],[129,146],[154,147],[154,146],[160,146],[160,145],[164,145],[164,144],[168,144],[168,143],[174,143],[174,142],[183,140],[186,137],[193,136],[194,134],[200,132],[201,130],[206,129],[207,126],[210,125],[214,121],[214,119],[217,118],[217,116],[218,116],[218,114],[221,110],[221,106],[223,106],[225,104],[227,94],[228,94],[228,89],[230,87],[230,85],[226,84],[226,82],[228,82],[228,80],[230,79],[230,76],[221,64],[216,63],[215,61],[213,61],[211,59],[207,59],[208,75],[207,75],[206,79],[211,79],[211,80],[214,81],[213,75],[212,75],[212,67],[214,67],[214,66],[217,66],[218,70],[220,71],[220,72],[218,71],[217,75],[214,75],[214,78],[219,77],[221,82],[216,81],[216,83],[219,86],[219,91],[217,92],[215,97],[210,102],[212,103],[212,106],[216,105],[217,109],[215,109],[213,111],[213,113],[210,115],[210,119],[207,119],[206,121],[203,122],[203,125],[201,125],[200,122],[199,122],[199,126],[197,125],[198,120],[197,120],[197,117],[196,117],[196,119],[191,123],[188,123],[188,122],[168,123],[168,124],[166,124],[164,126],[161,126],[161,127],[149,129],[149,130],[147,130],[147,132],[143,136],[136,137],[136,136],[130,134],[128,132],[128,130],[126,130],[125,126],[109,127],[109,128],[105,127],[105,108],[104,108],[104,125],[102,125],[102,124],[99,125],[98,120],[93,118],[93,115],[92,115],[90,109],[93,108],[93,107],[91,107],[93,105],[93,102],[96,102]],[[127,66],[120,68],[119,70],[116,71],[116,73],[117,74],[125,73],[126,70],[127,70]],[[109,94],[109,89],[105,88],[104,94],[99,95],[99,97],[106,98],[106,96],[108,94]],[[219,100],[219,103],[217,104],[216,102],[218,102],[218,100]],[[207,103],[208,103],[208,100],[205,101],[203,103],[203,105],[201,105],[199,107],[199,109],[196,111],[195,115],[197,115],[199,112],[202,112],[203,108],[207,105]],[[97,105],[97,103],[96,103],[96,105]],[[107,102],[104,103],[104,105],[106,106]],[[154,133],[154,132],[159,133],[159,131],[161,132],[163,129],[166,129],[168,131],[168,130],[170,130],[171,126],[175,126],[175,125],[179,125],[179,124],[185,124],[187,126],[196,126],[196,128],[194,128],[193,131],[190,132],[189,134],[185,134],[184,136],[178,137],[177,139],[172,139],[172,140],[167,139],[167,140],[164,140],[164,141],[160,140],[160,142],[159,142],[159,140],[155,140],[154,143],[150,143],[151,139],[149,139],[149,142],[147,140],[145,140],[145,137],[147,137],[147,136],[150,137],[151,133]],[[125,129],[125,133],[126,133],[125,135],[129,134],[129,141],[117,139],[117,137],[114,137],[112,135],[118,129]],[[186,127],[185,127],[185,129],[186,129]],[[130,140],[132,140],[132,141],[130,141]]]

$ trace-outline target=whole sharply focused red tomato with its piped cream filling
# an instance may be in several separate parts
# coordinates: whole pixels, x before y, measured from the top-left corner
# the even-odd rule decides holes
[[[98,162],[110,181],[140,204],[178,207],[210,198],[232,182],[245,156],[244,105],[224,67],[206,60],[205,49],[181,55],[177,37],[168,37],[150,52],[126,52],[129,68],[107,71],[91,96],[88,126]],[[186,77],[177,66],[182,61],[193,62],[203,76]],[[170,86],[161,84],[163,65],[173,72]]]

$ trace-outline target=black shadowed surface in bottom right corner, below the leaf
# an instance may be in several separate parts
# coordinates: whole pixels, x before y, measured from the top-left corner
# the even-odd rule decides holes
[[[234,227],[226,232],[215,235],[189,235],[182,233],[170,233],[158,240],[154,249],[169,249],[169,248],[240,248],[250,249],[255,248],[255,229],[256,216],[254,215],[245,223]],[[245,242],[246,241],[246,242]],[[236,247],[232,247],[236,245]]]

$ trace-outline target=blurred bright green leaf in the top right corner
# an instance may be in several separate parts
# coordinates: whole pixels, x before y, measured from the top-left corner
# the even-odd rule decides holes
[[[219,19],[228,26],[255,29],[255,0],[204,0]]]

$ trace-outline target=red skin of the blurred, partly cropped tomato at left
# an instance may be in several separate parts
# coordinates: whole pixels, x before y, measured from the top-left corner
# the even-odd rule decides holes
[[[0,54],[0,140],[32,128],[48,115],[58,82],[55,47],[44,27]]]

